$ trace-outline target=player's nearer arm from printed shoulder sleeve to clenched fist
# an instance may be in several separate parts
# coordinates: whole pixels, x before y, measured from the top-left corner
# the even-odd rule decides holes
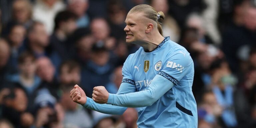
[[[186,53],[186,54],[183,54]],[[186,51],[177,52],[167,58],[163,69],[153,78],[147,90],[129,94],[109,94],[103,87],[94,87],[93,98],[97,103],[107,103],[125,107],[151,106],[190,71],[193,60]]]

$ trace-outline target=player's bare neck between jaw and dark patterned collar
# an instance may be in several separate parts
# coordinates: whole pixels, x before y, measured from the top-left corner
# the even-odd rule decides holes
[[[147,35],[142,41],[139,41],[137,45],[143,47],[146,51],[153,51],[162,41],[164,37],[157,31]]]

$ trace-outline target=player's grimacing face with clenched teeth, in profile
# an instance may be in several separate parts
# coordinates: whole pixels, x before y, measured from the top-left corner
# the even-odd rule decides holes
[[[145,37],[147,24],[145,24],[146,18],[142,14],[130,12],[127,14],[125,19],[126,27],[124,28],[127,43],[143,40],[143,37]]]

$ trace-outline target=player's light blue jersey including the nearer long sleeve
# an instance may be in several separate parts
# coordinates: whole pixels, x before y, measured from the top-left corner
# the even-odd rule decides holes
[[[139,128],[197,128],[194,63],[184,47],[169,37],[152,52],[140,47],[126,59],[122,74],[118,93],[110,94],[107,103],[140,107]]]

